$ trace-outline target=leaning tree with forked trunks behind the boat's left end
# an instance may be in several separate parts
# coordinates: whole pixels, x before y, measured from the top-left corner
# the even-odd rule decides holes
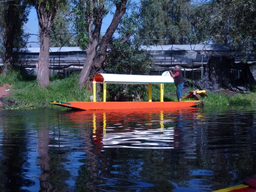
[[[114,34],[114,32],[116,31],[116,29],[118,28],[118,25],[121,23],[125,24],[127,22],[130,22],[129,26],[132,26],[128,29],[129,32],[127,32],[127,30],[125,31],[125,35],[124,33],[122,40],[120,41],[121,44],[125,43],[130,36],[133,33],[134,30],[134,24],[136,23],[136,19],[134,17],[136,17],[136,13],[135,10],[133,9],[131,11],[131,16],[133,17],[133,20],[131,19],[132,17],[128,17],[128,15],[124,15],[126,12],[126,9],[128,9],[128,7],[134,7],[134,3],[131,3],[130,1],[127,2],[127,0],[113,0],[111,1],[106,1],[105,0],[99,0],[99,1],[95,1],[95,0],[89,0],[89,1],[74,1],[74,4],[83,4],[83,8],[84,10],[82,11],[78,11],[77,8],[82,7],[82,6],[76,6],[75,10],[77,10],[76,12],[80,13],[80,15],[78,15],[80,20],[83,20],[84,22],[82,23],[82,25],[84,25],[86,23],[86,28],[87,31],[83,31],[81,30],[83,27],[81,27],[81,25],[79,23],[76,23],[75,26],[79,26],[78,28],[78,32],[80,32],[80,34],[78,34],[79,39],[83,39],[84,40],[84,44],[85,45],[81,45],[82,48],[86,48],[86,59],[85,59],[85,63],[84,63],[84,67],[81,71],[81,74],[79,76],[79,84],[80,84],[80,88],[83,87],[84,83],[88,80],[88,78],[90,77],[91,79],[96,75],[96,73],[100,70],[101,67],[104,66],[104,62],[105,60],[112,54],[112,49],[111,47],[109,47],[109,43],[112,40],[112,36]],[[101,41],[100,41],[100,45],[99,45],[99,37],[100,37],[100,29],[101,29],[101,24],[102,24],[102,19],[104,17],[104,15],[106,14],[106,12],[108,12],[109,7],[105,7],[105,4],[107,3],[113,3],[116,6],[116,11],[115,13],[113,13],[113,19],[111,24],[109,25],[105,35],[102,37]],[[111,6],[110,6],[111,8]],[[76,17],[77,18],[77,17]],[[86,19],[85,19],[86,18]],[[77,21],[75,19],[75,21]],[[77,28],[77,27],[76,27]],[[122,27],[121,27],[122,28]],[[121,29],[120,28],[120,29]],[[125,28],[125,27],[124,27]],[[123,28],[123,29],[124,29]],[[123,30],[124,32],[124,30]],[[82,38],[80,38],[82,37]],[[81,41],[80,41],[81,43]],[[86,46],[86,43],[88,43],[88,46]],[[98,47],[99,45],[99,47]],[[107,49],[109,49],[107,51]]]

